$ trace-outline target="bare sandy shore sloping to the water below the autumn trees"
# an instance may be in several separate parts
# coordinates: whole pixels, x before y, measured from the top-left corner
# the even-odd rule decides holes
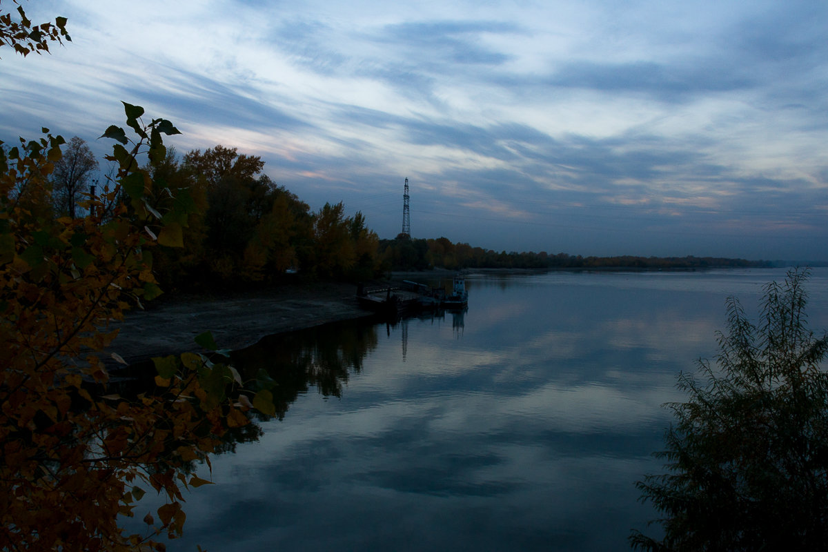
[[[219,348],[238,349],[269,334],[371,315],[353,284],[315,283],[229,295],[176,295],[129,311],[105,351],[129,363],[199,351],[195,336],[210,331]]]

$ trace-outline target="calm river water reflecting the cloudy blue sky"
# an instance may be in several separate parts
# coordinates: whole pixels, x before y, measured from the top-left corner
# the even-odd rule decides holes
[[[282,420],[213,458],[167,550],[628,550],[676,374],[783,278],[470,276],[462,315],[270,339],[235,362],[281,375]],[[828,271],[808,289],[828,328]]]

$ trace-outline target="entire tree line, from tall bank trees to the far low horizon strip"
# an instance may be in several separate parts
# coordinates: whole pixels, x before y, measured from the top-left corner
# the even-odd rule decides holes
[[[85,142],[75,137],[60,163],[52,177],[51,211],[75,217],[75,205],[81,204],[97,162]],[[184,156],[169,148],[163,159],[147,166],[152,190],[143,199],[146,209],[165,218],[173,212],[185,213],[180,221],[165,220],[167,230],[175,231],[159,237],[162,247],[153,251],[153,270],[163,289],[248,288],[277,284],[286,277],[356,282],[389,271],[430,268],[771,266],[713,257],[496,252],[448,238],[417,239],[405,234],[380,240],[363,214],[346,217],[341,202],[311,211],[296,194],[262,174],[263,167],[260,157],[226,146],[188,151]]]

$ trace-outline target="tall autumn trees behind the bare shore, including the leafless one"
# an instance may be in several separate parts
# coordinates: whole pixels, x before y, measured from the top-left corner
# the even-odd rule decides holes
[[[51,175],[56,214],[79,215],[97,168],[89,146],[73,137]],[[358,281],[381,270],[379,240],[362,213],[346,216],[341,202],[311,211],[262,173],[259,156],[221,145],[179,156],[170,147],[145,168],[152,180],[147,208],[161,213],[175,203],[187,214],[178,223],[180,239],[171,243],[183,247],[161,247],[155,255],[156,276],[167,290],[267,285],[294,271]],[[98,188],[105,192],[110,184],[111,177]]]

